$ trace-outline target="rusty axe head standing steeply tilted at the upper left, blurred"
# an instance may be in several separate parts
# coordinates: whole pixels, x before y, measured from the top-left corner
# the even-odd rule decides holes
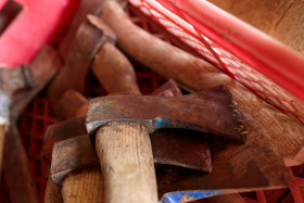
[[[53,110],[66,90],[75,89],[79,92],[85,90],[91,62],[106,40],[107,37],[103,35],[103,31],[89,22],[86,21],[79,26],[62,71],[48,88],[48,99]]]

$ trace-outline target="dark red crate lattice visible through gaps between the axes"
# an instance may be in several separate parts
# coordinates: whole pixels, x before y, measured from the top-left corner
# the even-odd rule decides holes
[[[139,26],[143,27],[145,30],[173,45],[177,42],[176,38],[174,38],[172,35],[163,31],[162,29],[157,29],[153,22],[140,15],[138,10],[130,8],[129,13],[132,17],[132,21]],[[161,76],[138,67],[138,64],[135,62],[132,62],[132,64],[137,66],[137,79],[143,94],[149,94],[165,81],[165,79]],[[103,94],[104,91],[102,88],[98,86],[96,81],[92,84],[93,88],[91,90],[91,94],[94,97]],[[20,123],[22,140],[27,151],[30,169],[37,182],[41,202],[43,202],[47,181],[47,165],[40,156],[41,143],[47,127],[55,122],[56,119],[50,112],[49,103],[45,97],[45,93],[42,92],[26,109]],[[290,189],[256,191],[255,193],[251,192],[244,193],[242,195],[246,202],[271,202],[275,200],[275,198],[278,200],[278,202],[303,202],[302,193],[304,190],[301,188],[304,187],[304,178],[302,178],[302,176],[304,177],[303,168],[303,165],[290,168],[290,176],[292,179],[292,186]]]

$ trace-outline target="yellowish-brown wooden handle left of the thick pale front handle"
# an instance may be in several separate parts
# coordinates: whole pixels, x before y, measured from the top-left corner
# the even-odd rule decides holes
[[[64,203],[103,203],[103,177],[99,168],[71,173],[63,180]]]

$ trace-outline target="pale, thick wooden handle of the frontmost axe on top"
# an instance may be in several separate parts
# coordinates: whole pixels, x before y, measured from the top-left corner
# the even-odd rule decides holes
[[[99,129],[96,147],[106,203],[157,202],[152,148],[144,126],[112,122]]]

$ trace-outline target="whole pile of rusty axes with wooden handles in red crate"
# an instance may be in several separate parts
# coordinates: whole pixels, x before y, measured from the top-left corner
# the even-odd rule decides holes
[[[4,86],[14,83],[0,75],[3,102],[14,103],[3,123],[10,127],[2,166],[13,182],[9,188],[22,190],[13,202],[38,202],[26,167],[10,172],[14,163],[26,166],[15,126],[56,72],[46,90],[60,123],[48,127],[42,144],[50,166],[45,202],[177,203],[215,195],[227,202],[224,194],[288,187],[286,157],[252,115],[267,104],[205,61],[136,26],[115,1],[77,27],[74,40],[62,42],[60,50],[68,50],[62,64],[55,50],[45,48],[15,69],[17,87]],[[142,96],[135,61],[167,83]],[[107,96],[89,98],[90,73]]]

